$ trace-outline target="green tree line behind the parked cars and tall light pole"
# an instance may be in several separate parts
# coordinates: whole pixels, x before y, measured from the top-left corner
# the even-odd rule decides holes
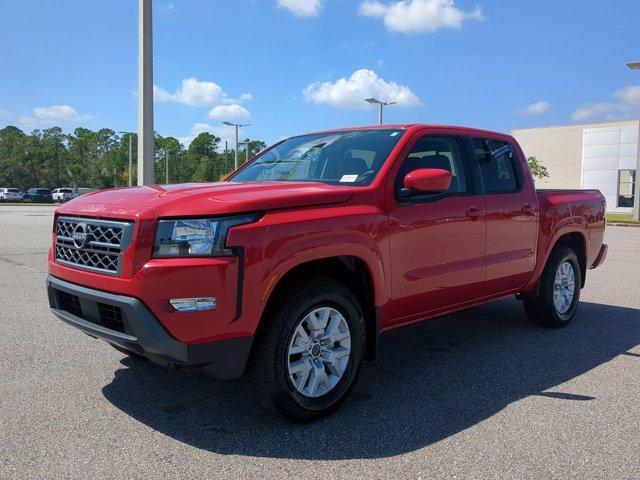
[[[137,143],[135,133],[118,134],[102,128],[76,128],[64,133],[60,127],[25,133],[15,126],[0,129],[0,187],[26,190],[30,187],[111,188],[128,185],[129,137],[136,183]],[[155,134],[155,181],[165,183],[168,157],[169,182],[220,180],[233,170],[234,150],[220,153],[222,140],[209,132],[200,133],[188,147],[175,137]],[[263,141],[243,142],[240,162],[266,148]]]

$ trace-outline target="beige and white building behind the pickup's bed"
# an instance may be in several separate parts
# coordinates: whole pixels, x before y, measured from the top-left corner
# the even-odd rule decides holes
[[[538,188],[597,188],[607,210],[632,212],[640,202],[640,120],[527,128],[512,131],[527,157],[549,171]],[[635,194],[634,194],[635,193]]]

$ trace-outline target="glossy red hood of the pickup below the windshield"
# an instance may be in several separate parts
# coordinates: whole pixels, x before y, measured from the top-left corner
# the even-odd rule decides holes
[[[114,188],[82,195],[58,209],[61,214],[159,217],[223,215],[346,202],[353,188],[316,182],[218,182]]]

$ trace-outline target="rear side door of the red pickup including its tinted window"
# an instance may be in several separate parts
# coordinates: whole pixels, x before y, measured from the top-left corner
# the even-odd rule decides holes
[[[513,143],[491,137],[470,140],[485,191],[487,293],[515,291],[524,285],[536,263],[535,187]]]

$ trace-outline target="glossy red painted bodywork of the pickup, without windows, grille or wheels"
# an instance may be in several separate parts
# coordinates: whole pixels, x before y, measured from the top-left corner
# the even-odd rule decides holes
[[[138,298],[174,337],[201,343],[253,335],[277,281],[312,260],[359,259],[371,278],[382,330],[532,291],[553,246],[565,234],[580,235],[587,267],[604,260],[600,192],[536,192],[512,137],[435,125],[384,128],[404,128],[406,133],[369,186],[230,181],[84,195],[61,206],[57,215],[135,221],[123,274],[112,277],[66,267],[55,263],[51,252],[49,271],[69,282]],[[511,143],[525,172],[522,189],[425,203],[399,201],[394,182],[400,163],[417,139],[428,134],[483,136]],[[416,172],[408,175],[414,187],[430,183],[434,190],[443,189],[447,175]],[[151,259],[159,218],[254,211],[263,212],[260,220],[233,228],[227,241],[245,253],[239,318],[235,318],[238,258]],[[179,314],[168,303],[170,298],[197,296],[216,297],[217,310]]]

